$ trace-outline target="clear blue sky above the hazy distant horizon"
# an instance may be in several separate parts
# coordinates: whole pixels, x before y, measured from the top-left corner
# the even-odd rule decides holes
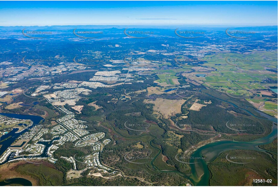
[[[277,25],[277,1],[0,2],[0,26]]]

